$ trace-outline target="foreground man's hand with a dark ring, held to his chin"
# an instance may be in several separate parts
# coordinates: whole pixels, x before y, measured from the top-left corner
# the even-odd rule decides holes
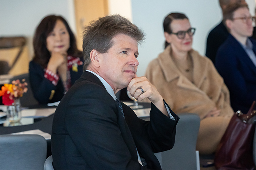
[[[127,91],[138,101],[148,98],[162,113],[169,116],[164,105],[163,97],[146,77],[135,75],[135,78],[129,83]]]

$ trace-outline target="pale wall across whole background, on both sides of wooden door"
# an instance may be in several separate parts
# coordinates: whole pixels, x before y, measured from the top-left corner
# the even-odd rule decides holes
[[[246,0],[254,16],[255,0]],[[220,22],[218,0],[109,0],[109,13],[127,17],[146,33],[139,46],[138,76],[145,74],[148,63],[164,48],[163,20],[174,11],[185,13],[192,27],[196,27],[193,48],[205,54],[209,31]],[[0,36],[24,35],[29,38],[33,55],[32,37],[43,17],[62,15],[76,32],[73,0],[0,0]],[[30,56],[31,58],[31,56]]]

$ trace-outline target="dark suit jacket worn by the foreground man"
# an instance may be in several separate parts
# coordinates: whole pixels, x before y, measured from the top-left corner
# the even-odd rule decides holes
[[[122,107],[125,120],[101,81],[84,72],[53,118],[54,168],[146,169],[138,163],[137,147],[148,169],[161,169],[153,152],[173,147],[178,116],[171,111],[171,120],[151,103],[151,121],[146,122],[124,103]]]

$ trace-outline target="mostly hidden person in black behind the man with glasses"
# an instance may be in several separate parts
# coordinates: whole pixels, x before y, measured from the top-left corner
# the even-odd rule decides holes
[[[235,3],[246,4],[245,0],[219,0],[222,14],[227,6]],[[213,63],[215,62],[216,53],[220,45],[226,41],[228,36],[229,31],[227,30],[226,24],[223,20],[210,31],[206,43],[206,57],[210,58]]]

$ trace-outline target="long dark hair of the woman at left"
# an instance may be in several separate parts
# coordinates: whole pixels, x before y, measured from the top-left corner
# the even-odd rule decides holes
[[[33,47],[34,47],[34,58],[33,61],[37,62],[43,68],[47,67],[49,59],[51,57],[50,52],[47,50],[46,47],[46,38],[52,32],[53,28],[56,25],[57,20],[63,22],[68,30],[69,37],[70,37],[70,47],[68,49],[68,55],[72,57],[81,57],[82,52],[78,50],[76,46],[76,38],[75,35],[72,33],[67,21],[61,16],[50,15],[40,22],[40,24],[36,28],[36,32],[33,39]]]

